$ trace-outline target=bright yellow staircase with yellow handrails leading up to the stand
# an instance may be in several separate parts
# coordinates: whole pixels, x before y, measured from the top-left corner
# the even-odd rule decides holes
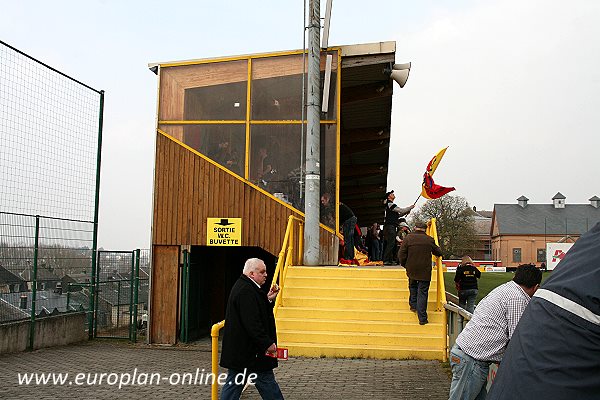
[[[436,238],[435,221],[428,233]],[[293,243],[293,234],[286,239]],[[446,360],[440,260],[429,289],[429,324],[419,325],[404,269],[292,266],[296,251],[284,246],[273,277],[281,287],[278,345],[290,356]]]

